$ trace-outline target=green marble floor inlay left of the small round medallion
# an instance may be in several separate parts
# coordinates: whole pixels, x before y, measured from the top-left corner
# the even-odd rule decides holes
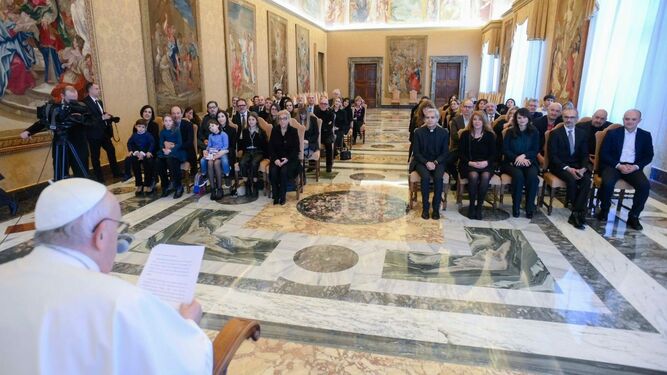
[[[157,244],[204,245],[205,260],[261,264],[280,241],[214,233],[236,215],[233,211],[197,209],[132,248],[148,253]]]

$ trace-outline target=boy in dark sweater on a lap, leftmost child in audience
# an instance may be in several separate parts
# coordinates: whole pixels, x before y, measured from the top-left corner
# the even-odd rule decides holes
[[[148,121],[141,119],[134,124],[136,133],[127,140],[128,157],[134,171],[134,186],[136,194],[153,193],[153,174],[155,158],[155,144],[153,136],[146,131]],[[141,173],[143,166],[144,174]]]

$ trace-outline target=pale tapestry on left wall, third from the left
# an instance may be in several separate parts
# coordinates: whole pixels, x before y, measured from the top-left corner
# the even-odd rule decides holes
[[[225,1],[229,97],[247,99],[257,93],[255,26],[255,5],[243,0]]]

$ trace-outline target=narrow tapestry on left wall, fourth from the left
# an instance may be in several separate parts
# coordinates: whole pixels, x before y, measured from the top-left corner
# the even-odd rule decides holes
[[[288,92],[287,82],[287,20],[268,12],[269,90]]]

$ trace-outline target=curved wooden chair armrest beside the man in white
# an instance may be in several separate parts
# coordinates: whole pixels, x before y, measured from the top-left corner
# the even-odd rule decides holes
[[[213,375],[227,374],[234,353],[247,339],[259,340],[260,326],[254,320],[232,318],[213,340]]]

